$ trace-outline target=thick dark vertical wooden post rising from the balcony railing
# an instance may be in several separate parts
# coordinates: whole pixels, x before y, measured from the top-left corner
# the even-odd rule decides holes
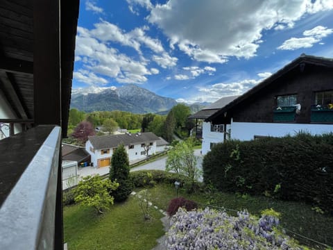
[[[61,126],[60,0],[33,0],[35,125]]]

